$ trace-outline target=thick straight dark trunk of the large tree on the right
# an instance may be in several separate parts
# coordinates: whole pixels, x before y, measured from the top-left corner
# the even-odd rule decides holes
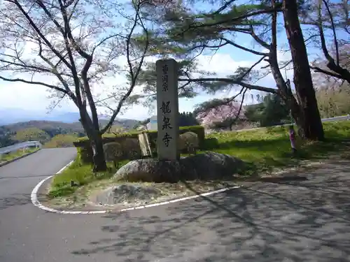
[[[302,128],[305,138],[323,140],[323,126],[318,111],[307,49],[297,16],[297,2],[295,0],[283,0],[283,18],[293,59],[294,85],[300,98],[299,108],[303,116],[300,119],[301,123],[298,125]]]

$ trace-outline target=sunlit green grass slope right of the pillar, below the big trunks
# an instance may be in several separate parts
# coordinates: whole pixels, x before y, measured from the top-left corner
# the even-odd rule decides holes
[[[292,166],[302,160],[326,157],[340,149],[342,141],[350,138],[350,122],[325,122],[324,142],[305,142],[297,138],[297,155],[293,157],[288,138],[288,126],[251,131],[212,133],[219,147],[214,151],[230,154],[248,163],[251,171],[266,172],[276,167]]]

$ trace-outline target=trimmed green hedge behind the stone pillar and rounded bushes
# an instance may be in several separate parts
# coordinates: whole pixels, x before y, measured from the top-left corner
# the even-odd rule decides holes
[[[203,126],[181,126],[179,128],[179,134],[193,132],[198,136],[200,147],[202,146],[205,138],[204,127]],[[123,144],[126,138],[133,138],[139,140],[138,136],[141,132],[131,132],[131,133],[120,133],[118,135],[107,133],[102,136],[103,143],[118,142]],[[148,137],[150,141],[151,150],[153,153],[157,152],[157,131],[149,131]],[[90,146],[90,140],[87,137],[78,138],[76,142],[73,143],[75,147],[78,147],[78,159],[82,163],[92,163],[92,148]],[[140,152],[141,156],[141,152]],[[126,160],[127,156],[124,156],[122,160]]]

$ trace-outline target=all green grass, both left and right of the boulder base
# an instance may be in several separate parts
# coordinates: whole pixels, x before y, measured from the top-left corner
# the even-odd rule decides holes
[[[268,173],[274,168],[295,166],[302,160],[325,158],[330,152],[341,151],[342,141],[350,138],[350,121],[323,123],[325,142],[302,143],[297,141],[298,152],[292,157],[288,132],[285,126],[258,129],[253,131],[212,133],[207,138],[216,138],[216,148],[207,150],[230,154],[248,163],[248,170],[243,175]],[[200,151],[205,152],[205,151]],[[199,153],[200,153],[199,152]],[[127,161],[122,163],[125,164]],[[61,174],[56,175],[48,196],[67,196],[79,187],[110,178],[116,170],[92,174],[90,165],[74,162]],[[71,181],[78,186],[71,187]]]

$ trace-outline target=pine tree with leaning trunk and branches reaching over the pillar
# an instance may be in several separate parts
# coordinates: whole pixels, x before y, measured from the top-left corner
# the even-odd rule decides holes
[[[315,129],[311,126],[316,122],[321,122],[317,113],[317,104],[297,101],[281,73],[282,66],[277,59],[277,15],[283,9],[282,4],[273,0],[252,1],[249,4],[239,5],[235,4],[235,1],[228,1],[223,3],[220,8],[209,12],[192,11],[195,10],[194,7],[186,6],[183,3],[172,6],[172,8],[162,6],[157,17],[159,27],[153,31],[155,37],[151,43],[151,50],[165,56],[172,53],[173,56],[181,59],[179,81],[183,82],[183,85],[179,87],[179,94],[195,96],[198,91],[215,93],[231,90],[237,85],[242,87],[240,92],[228,98],[225,103],[234,101],[247,89],[279,94],[305,137],[322,139],[322,129]],[[241,45],[238,41],[240,34],[251,36],[253,41],[258,44],[258,48],[253,49]],[[202,54],[205,50],[207,52],[208,50],[215,51],[228,46],[255,54],[259,58],[252,66],[240,67],[226,78],[218,77],[212,72],[197,71],[195,62],[190,59],[190,57]],[[262,61],[268,63],[267,66],[263,66],[263,68],[268,68],[263,75],[272,73],[276,81],[276,89],[253,84],[261,77],[261,72],[255,68]],[[154,65],[151,64],[148,66],[148,70],[141,74],[140,80],[144,80],[148,84],[145,92],[155,90],[154,72]],[[304,90],[308,91],[304,92]],[[298,97],[302,101],[305,99],[309,101],[308,92],[311,92],[310,90],[313,90],[312,85],[304,89],[297,89]],[[313,102],[316,102],[316,99]],[[308,110],[310,113],[307,113]],[[305,121],[304,114],[306,113],[313,115],[316,120],[314,122]]]

